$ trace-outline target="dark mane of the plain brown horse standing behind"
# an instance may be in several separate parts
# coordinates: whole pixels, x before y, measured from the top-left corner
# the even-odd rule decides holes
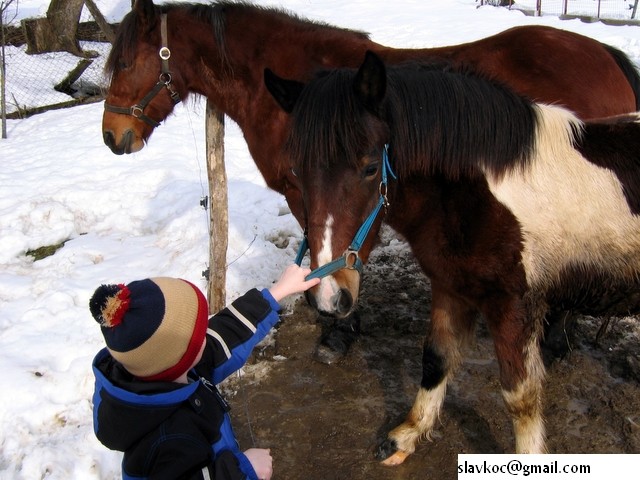
[[[281,8],[254,5],[243,0],[221,0],[211,4],[169,2],[162,5],[154,5],[154,8],[156,15],[160,13],[168,13],[172,10],[183,10],[187,15],[193,16],[194,19],[211,25],[212,34],[216,40],[216,44],[218,45],[219,55],[223,59],[226,58],[225,28],[227,17],[231,13],[256,13],[262,16],[268,16],[272,22],[285,22],[287,25],[311,29],[316,32],[318,29],[326,29],[334,32],[344,32],[349,35],[356,35],[360,38],[369,38],[369,34],[365,32],[340,28],[321,21],[308,20]],[[135,10],[132,10],[123,18],[120,26],[118,27],[118,34],[113,46],[111,47],[109,58],[107,58],[105,64],[105,72],[107,75],[113,75],[118,66],[116,64],[117,62],[122,61],[125,64],[133,62],[136,45],[140,35],[140,32],[138,32],[139,23],[138,14]],[[275,25],[277,25],[277,23]],[[277,28],[275,25],[274,28]]]

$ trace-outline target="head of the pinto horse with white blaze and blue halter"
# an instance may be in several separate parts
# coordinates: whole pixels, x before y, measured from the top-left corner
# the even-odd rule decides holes
[[[340,268],[307,299],[322,312],[344,317],[358,300],[357,266],[367,261],[386,210],[382,179],[389,130],[378,115],[384,65],[368,53],[357,72],[334,70],[303,85],[267,69],[265,83],[292,116],[287,148],[302,190],[311,268],[333,261]]]

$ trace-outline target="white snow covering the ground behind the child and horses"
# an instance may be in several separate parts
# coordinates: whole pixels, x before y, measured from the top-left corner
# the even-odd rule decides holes
[[[640,63],[640,28],[560,21],[475,0],[274,0],[301,16],[405,47],[462,43],[515,25],[597,38]],[[603,4],[606,2],[603,2]],[[18,16],[49,0],[20,0]],[[130,0],[97,2],[118,21]],[[43,88],[47,78],[33,78]],[[47,87],[48,88],[48,87]],[[92,429],[91,361],[102,348],[88,300],[101,283],[167,275],[206,289],[204,102],[178,105],[139,153],[102,142],[102,103],[8,121],[0,140],[0,479],[116,479],[121,454]],[[300,228],[226,121],[227,297],[268,286],[293,261]],[[27,251],[66,242],[34,261]],[[400,248],[400,247],[399,247]]]

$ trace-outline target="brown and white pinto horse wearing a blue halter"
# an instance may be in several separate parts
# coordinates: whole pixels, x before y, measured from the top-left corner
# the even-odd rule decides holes
[[[545,314],[640,311],[640,117],[583,123],[467,70],[385,66],[372,52],[358,70],[307,85],[270,70],[265,82],[291,112],[287,154],[311,266],[328,274],[312,303],[349,314],[354,267],[383,221],[431,280],[419,392],[378,458],[399,464],[429,436],[478,317],[494,342],[515,450],[545,452]],[[326,271],[340,258],[341,270]]]

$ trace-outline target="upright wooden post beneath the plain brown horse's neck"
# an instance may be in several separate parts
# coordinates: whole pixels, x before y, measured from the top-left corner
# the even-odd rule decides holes
[[[209,313],[214,314],[226,304],[229,214],[224,166],[224,114],[209,100],[205,123],[210,222],[207,301]]]

